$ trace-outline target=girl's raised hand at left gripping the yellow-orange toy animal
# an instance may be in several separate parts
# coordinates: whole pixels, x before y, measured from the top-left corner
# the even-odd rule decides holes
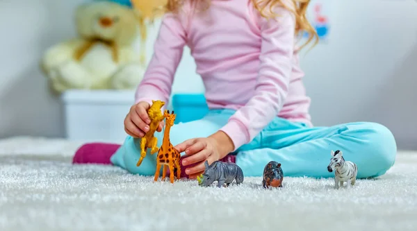
[[[149,103],[141,101],[133,105],[124,119],[124,131],[133,138],[142,138],[149,131],[149,123],[151,120],[147,114],[147,110],[151,107]],[[159,123],[156,131],[161,132],[163,121]]]

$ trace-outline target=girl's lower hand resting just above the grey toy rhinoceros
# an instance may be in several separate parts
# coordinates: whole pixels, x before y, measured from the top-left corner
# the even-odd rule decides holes
[[[186,152],[186,157],[182,160],[183,166],[191,166],[186,169],[189,178],[197,178],[204,173],[204,162],[208,164],[220,160],[234,150],[234,144],[224,132],[216,132],[207,138],[188,139],[175,146],[182,153]]]

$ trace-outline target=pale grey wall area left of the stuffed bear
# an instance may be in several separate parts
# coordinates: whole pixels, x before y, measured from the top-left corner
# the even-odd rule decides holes
[[[44,49],[74,35],[76,2],[0,1],[0,137],[63,135],[60,105],[39,63]]]

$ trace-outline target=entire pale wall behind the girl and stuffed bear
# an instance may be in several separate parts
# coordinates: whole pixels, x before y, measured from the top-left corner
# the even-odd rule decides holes
[[[383,123],[400,148],[417,149],[417,2],[334,1],[329,42],[302,57],[313,122]],[[81,2],[0,1],[0,137],[64,135],[59,100],[38,67],[44,49],[75,35],[72,10]],[[202,92],[189,50],[184,54],[174,92]]]

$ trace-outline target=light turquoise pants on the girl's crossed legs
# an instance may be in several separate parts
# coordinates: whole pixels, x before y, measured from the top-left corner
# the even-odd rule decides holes
[[[173,145],[186,139],[213,134],[234,114],[234,110],[211,110],[203,119],[175,124],[171,128]],[[161,146],[163,132],[155,132]],[[343,151],[345,160],[358,166],[358,178],[381,176],[393,166],[397,146],[390,130],[378,123],[357,122],[332,127],[310,128],[276,117],[252,142],[236,151],[236,164],[245,176],[262,176],[265,164],[275,160],[282,164],[284,176],[328,178],[331,151]],[[183,153],[181,153],[183,155]],[[148,151],[137,167],[140,157],[140,139],[128,136],[111,157],[116,166],[131,173],[154,176],[156,155]]]

